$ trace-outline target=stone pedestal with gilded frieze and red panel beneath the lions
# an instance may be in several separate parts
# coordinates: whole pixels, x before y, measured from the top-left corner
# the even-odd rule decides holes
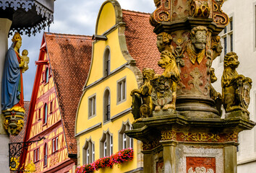
[[[143,143],[145,173],[235,173],[238,134],[254,125],[242,117],[174,113],[138,120],[126,133]]]

